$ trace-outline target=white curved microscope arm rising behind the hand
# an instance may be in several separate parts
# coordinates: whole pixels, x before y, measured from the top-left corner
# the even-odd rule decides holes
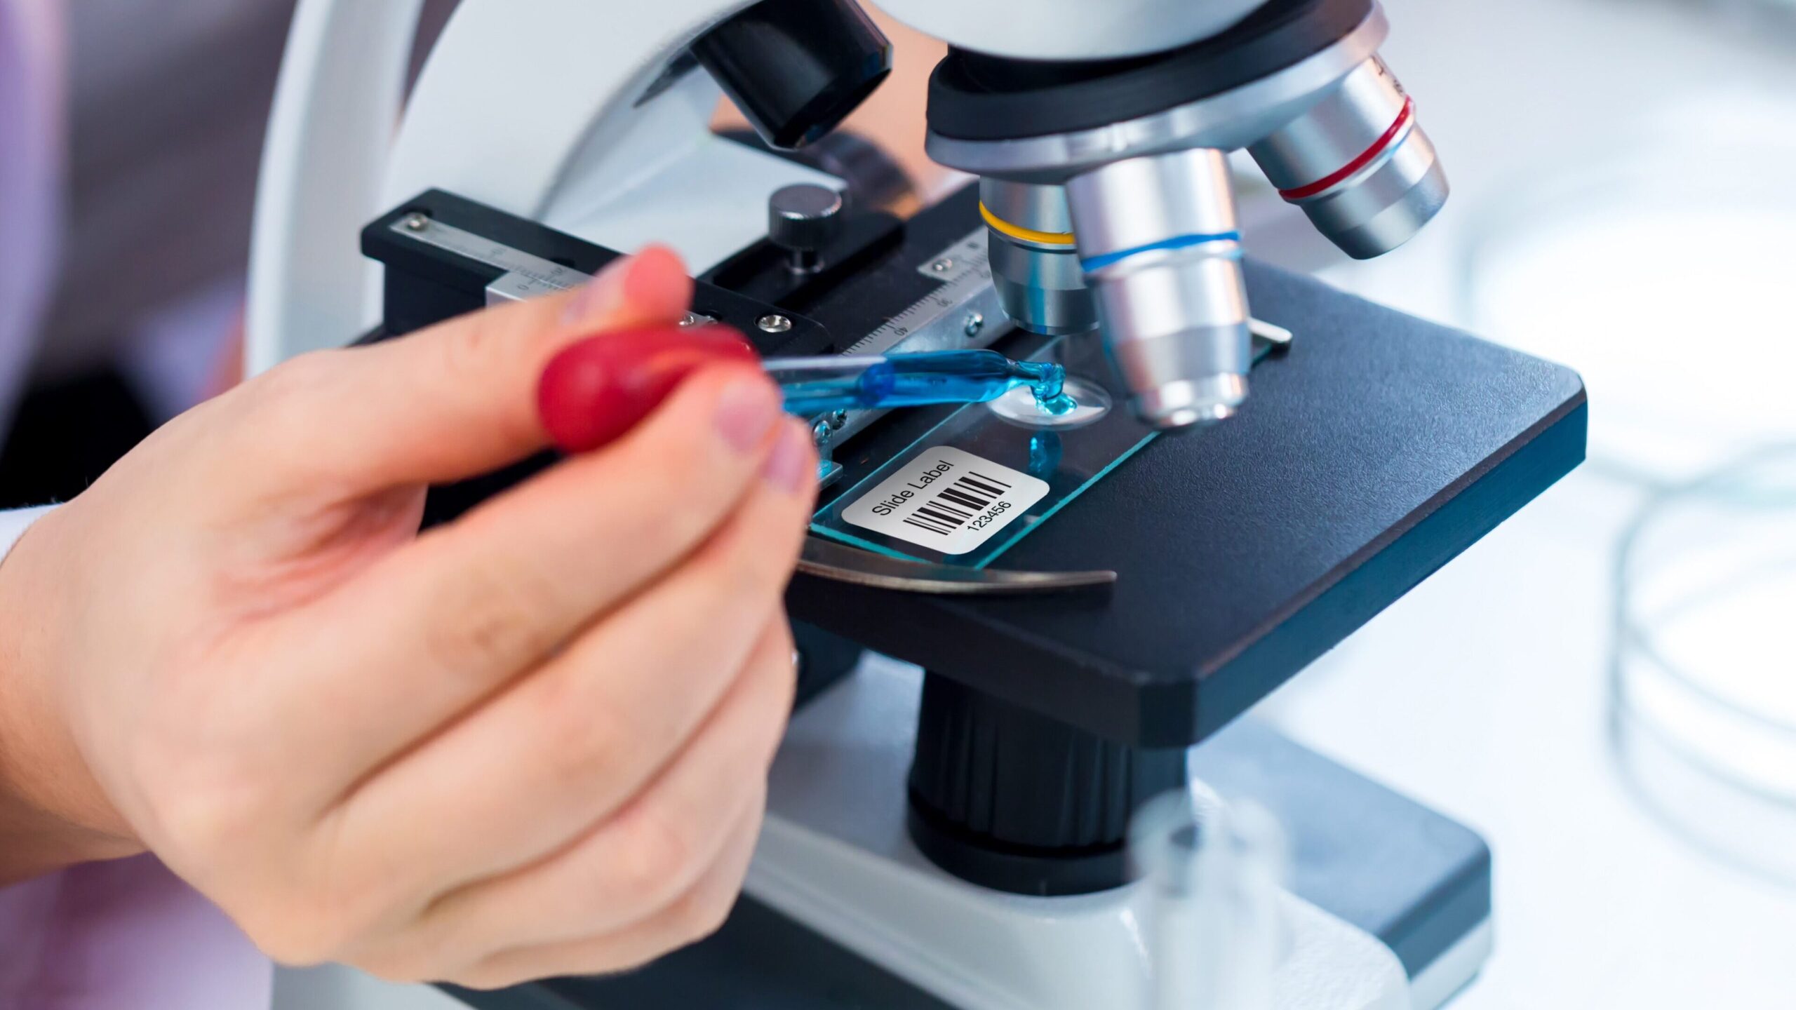
[[[532,0],[523,16],[510,0],[463,0],[406,101],[422,0],[300,0],[257,196],[250,370],[347,343],[377,322],[379,271],[356,235],[431,187],[571,226],[695,153],[715,153],[726,164],[702,167],[745,187],[765,187],[770,173],[826,180],[713,144],[718,90],[706,74],[639,102],[677,52],[749,2],[656,0],[620,14],[598,0]],[[706,217],[718,207],[722,219]],[[760,216],[735,219],[727,207],[652,216],[684,230],[684,244],[645,226],[623,226],[623,239],[603,223],[571,230],[612,244],[674,239],[697,268],[760,237]]]

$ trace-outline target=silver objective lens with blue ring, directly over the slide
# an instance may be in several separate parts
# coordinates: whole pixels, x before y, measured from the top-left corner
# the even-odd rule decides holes
[[[1221,151],[1112,162],[1067,183],[1085,280],[1135,413],[1223,421],[1252,367],[1234,189]]]

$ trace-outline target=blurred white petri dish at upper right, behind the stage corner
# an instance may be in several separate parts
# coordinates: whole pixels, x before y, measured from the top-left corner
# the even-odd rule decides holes
[[[1469,221],[1462,318],[1575,365],[1591,458],[1652,482],[1796,437],[1789,164],[1796,102],[1730,93],[1554,149]]]

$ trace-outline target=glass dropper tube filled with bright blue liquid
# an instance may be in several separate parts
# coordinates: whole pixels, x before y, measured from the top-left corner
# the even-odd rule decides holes
[[[767,372],[785,390],[787,412],[799,417],[837,410],[988,403],[1017,386],[1029,386],[1036,406],[1049,415],[1063,415],[1078,406],[1065,392],[1065,368],[1047,361],[1011,361],[995,350],[769,359]]]

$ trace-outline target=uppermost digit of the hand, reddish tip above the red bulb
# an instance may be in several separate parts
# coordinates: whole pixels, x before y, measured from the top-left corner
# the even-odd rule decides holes
[[[287,421],[264,428],[277,442],[268,451],[350,492],[494,471],[548,446],[535,392],[559,350],[598,331],[677,323],[690,304],[679,255],[650,246],[575,291],[296,358],[264,376],[296,386],[268,397]],[[284,379],[287,368],[296,374]]]

